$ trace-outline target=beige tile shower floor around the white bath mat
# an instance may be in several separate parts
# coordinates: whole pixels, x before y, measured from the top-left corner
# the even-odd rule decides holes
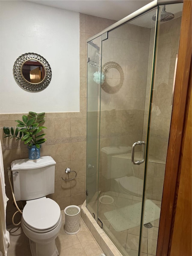
[[[133,227],[123,231],[116,231],[110,224],[105,212],[113,211],[114,209],[121,208],[128,205],[134,205],[141,201],[140,197],[121,194],[113,191],[101,193],[99,197],[103,195],[109,195],[113,198],[113,202],[110,204],[104,204],[99,202],[99,218],[103,222],[103,229],[110,239],[116,244],[117,248],[120,249],[123,255],[137,256],[140,238],[140,226]],[[104,198],[103,200],[108,200]],[[159,208],[161,208],[161,201],[152,200]],[[91,202],[94,203],[94,202]],[[90,203],[90,207],[91,207]],[[107,201],[106,201],[107,203]],[[92,207],[91,207],[92,208]],[[157,238],[158,238],[158,227],[159,219],[152,221],[152,228],[143,227],[143,239],[142,239],[142,254],[141,256],[156,255]]]

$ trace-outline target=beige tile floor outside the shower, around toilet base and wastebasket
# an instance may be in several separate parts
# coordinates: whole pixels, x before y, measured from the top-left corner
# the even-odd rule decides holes
[[[103,253],[81,217],[80,231],[75,235],[68,235],[64,231],[64,210],[61,210],[61,214],[63,223],[55,240],[60,256],[99,256]],[[10,232],[10,247],[8,248],[7,256],[31,256],[29,240],[23,233],[21,226],[10,225],[7,226],[7,230]]]

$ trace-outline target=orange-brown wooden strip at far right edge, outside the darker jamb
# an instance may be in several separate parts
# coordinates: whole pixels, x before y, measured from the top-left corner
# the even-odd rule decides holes
[[[192,255],[192,188],[191,188],[191,118],[192,118],[192,70],[190,68],[187,104],[184,118],[182,148],[176,183],[176,196],[173,207],[173,218],[170,232],[168,255]],[[175,207],[176,206],[176,207]],[[175,208],[175,209],[174,209]]]

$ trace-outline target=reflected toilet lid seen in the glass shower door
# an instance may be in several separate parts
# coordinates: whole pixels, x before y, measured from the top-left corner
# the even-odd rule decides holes
[[[141,197],[143,194],[143,180],[134,176],[119,178],[119,185],[130,194]]]

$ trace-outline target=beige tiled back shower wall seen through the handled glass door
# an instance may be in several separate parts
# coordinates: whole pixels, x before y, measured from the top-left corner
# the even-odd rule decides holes
[[[129,23],[109,32],[108,39],[102,42],[102,66],[110,61],[118,63],[124,80],[114,94],[101,89],[100,149],[106,146],[131,147],[134,142],[142,140],[149,41],[150,29]],[[116,86],[120,81],[119,72],[109,69],[106,80],[109,85]],[[106,173],[110,157],[102,150],[100,154],[99,190],[104,192],[110,187],[110,179],[106,179],[110,177]],[[128,166],[124,169],[128,171]]]

